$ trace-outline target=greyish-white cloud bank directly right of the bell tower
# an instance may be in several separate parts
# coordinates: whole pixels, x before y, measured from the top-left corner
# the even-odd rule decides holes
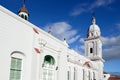
[[[120,35],[116,37],[102,37],[102,41],[105,60],[120,59]]]

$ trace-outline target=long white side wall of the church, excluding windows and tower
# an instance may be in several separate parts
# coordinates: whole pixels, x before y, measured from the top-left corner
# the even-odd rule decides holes
[[[38,30],[38,33],[33,31]],[[41,40],[45,43],[41,47]],[[96,72],[93,68],[88,68],[83,64],[89,59],[79,55],[73,50],[69,50],[64,42],[54,38],[33,24],[23,20],[17,15],[0,6],[0,79],[9,80],[11,54],[14,51],[25,55],[23,80],[42,80],[42,64],[46,55],[51,55],[55,59],[55,80],[67,80],[67,71],[70,68],[71,80],[74,80],[74,68],[76,69],[76,80],[83,79],[83,69],[86,71],[85,80],[88,79],[88,70]],[[34,48],[38,48],[37,53]],[[67,55],[77,63],[67,62]],[[78,62],[80,60],[80,62]],[[95,64],[97,65],[97,64]],[[58,69],[56,70],[56,67]],[[96,68],[96,66],[94,66]],[[92,76],[92,74],[91,74]],[[98,77],[98,76],[96,76]]]

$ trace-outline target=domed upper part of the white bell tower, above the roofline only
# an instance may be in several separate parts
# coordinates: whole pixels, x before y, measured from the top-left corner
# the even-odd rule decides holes
[[[93,16],[92,24],[87,31],[87,38],[85,39],[85,56],[91,60],[102,59],[102,41],[100,35],[100,28]]]

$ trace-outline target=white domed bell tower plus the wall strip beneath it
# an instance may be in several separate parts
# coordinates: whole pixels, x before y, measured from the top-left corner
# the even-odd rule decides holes
[[[85,56],[96,63],[98,79],[103,80],[104,60],[102,59],[102,40],[100,36],[100,28],[93,16],[92,24],[87,31],[87,38],[85,39]]]

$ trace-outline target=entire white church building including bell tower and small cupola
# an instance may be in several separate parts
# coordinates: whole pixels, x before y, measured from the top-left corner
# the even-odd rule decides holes
[[[82,56],[28,22],[25,6],[19,16],[0,6],[0,79],[103,80],[102,41],[94,17]]]

